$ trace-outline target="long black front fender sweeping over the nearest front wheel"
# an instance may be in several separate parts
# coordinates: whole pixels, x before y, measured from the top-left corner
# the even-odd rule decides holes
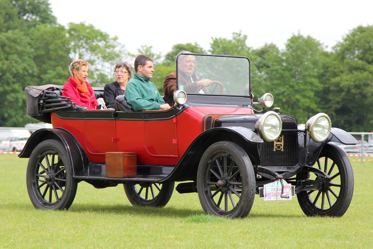
[[[216,127],[198,135],[189,145],[172,172],[160,182],[195,180],[203,153],[211,144],[219,141],[235,142],[246,151],[253,165],[260,163],[258,144],[262,143],[263,139],[253,130],[236,126]]]

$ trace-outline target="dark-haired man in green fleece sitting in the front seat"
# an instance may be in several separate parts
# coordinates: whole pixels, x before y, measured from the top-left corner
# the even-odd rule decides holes
[[[165,104],[157,87],[149,81],[153,77],[153,60],[139,55],[135,58],[135,74],[126,86],[125,96],[135,111],[164,110],[170,108]]]

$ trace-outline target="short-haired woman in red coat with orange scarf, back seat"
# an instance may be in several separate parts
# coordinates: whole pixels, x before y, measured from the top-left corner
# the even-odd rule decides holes
[[[89,110],[97,109],[96,98],[91,85],[86,82],[88,76],[87,61],[81,59],[75,60],[70,64],[70,73],[68,82],[63,85],[62,96],[70,97],[76,105],[87,107]]]

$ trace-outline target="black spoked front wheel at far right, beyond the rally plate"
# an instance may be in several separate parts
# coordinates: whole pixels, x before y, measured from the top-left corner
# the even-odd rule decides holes
[[[307,216],[344,215],[354,193],[354,173],[346,153],[334,144],[326,144],[314,166],[330,175],[331,179],[320,184],[318,190],[299,192],[297,197],[301,209]],[[301,172],[297,178],[307,181],[307,178],[314,180],[317,176]]]

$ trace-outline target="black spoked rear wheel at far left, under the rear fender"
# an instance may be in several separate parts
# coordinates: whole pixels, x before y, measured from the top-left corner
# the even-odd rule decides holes
[[[76,194],[65,147],[57,140],[46,140],[32,151],[27,165],[26,185],[32,205],[37,209],[68,209]]]

